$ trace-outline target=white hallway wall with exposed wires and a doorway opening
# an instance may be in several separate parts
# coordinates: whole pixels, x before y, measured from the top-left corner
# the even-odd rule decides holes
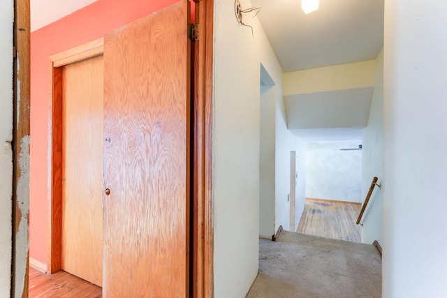
[[[252,6],[249,0],[240,2],[242,8]],[[270,100],[274,98],[274,110],[269,112],[274,117],[274,172],[284,171],[286,181],[291,135],[284,132],[283,72],[258,18],[244,14],[253,37],[248,27],[237,23],[234,1],[214,3],[214,297],[242,298],[258,273],[261,64],[275,84],[268,90]],[[287,142],[285,168],[277,163],[278,144],[283,142]],[[289,184],[277,186],[276,179],[274,195],[284,193],[288,204]],[[275,204],[273,230],[288,223],[288,212]]]

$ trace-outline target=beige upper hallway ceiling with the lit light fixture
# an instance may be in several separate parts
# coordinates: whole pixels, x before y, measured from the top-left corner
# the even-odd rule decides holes
[[[383,0],[252,0],[284,71],[375,59],[383,47]]]

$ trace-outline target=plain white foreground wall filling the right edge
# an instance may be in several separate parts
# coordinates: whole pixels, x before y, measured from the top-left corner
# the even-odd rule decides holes
[[[446,15],[446,1],[385,1],[385,298],[447,293]]]

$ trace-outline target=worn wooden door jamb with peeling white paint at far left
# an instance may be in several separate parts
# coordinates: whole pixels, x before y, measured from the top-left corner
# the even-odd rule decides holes
[[[29,91],[30,91],[30,33],[29,1],[15,0],[15,64],[13,133],[13,275],[14,298],[27,297],[29,251]]]

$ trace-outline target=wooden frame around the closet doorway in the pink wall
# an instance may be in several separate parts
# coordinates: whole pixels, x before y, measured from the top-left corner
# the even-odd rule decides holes
[[[47,273],[61,269],[62,247],[62,67],[104,52],[104,38],[50,56],[50,96],[48,98],[48,237]]]

